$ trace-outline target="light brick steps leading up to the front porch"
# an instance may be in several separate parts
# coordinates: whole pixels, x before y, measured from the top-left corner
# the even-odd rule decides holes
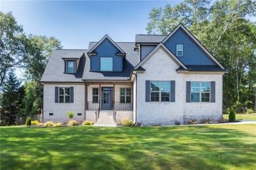
[[[100,116],[95,125],[116,125],[113,110],[100,110]]]

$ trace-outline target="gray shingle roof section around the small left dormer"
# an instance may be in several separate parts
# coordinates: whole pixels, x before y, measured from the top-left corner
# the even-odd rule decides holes
[[[83,82],[83,69],[87,50],[53,50],[41,78],[41,82]],[[81,58],[80,58],[81,57]],[[64,74],[64,59],[80,58],[75,74]]]

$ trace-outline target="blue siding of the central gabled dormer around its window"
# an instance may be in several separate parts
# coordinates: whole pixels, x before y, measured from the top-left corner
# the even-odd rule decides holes
[[[91,57],[91,71],[100,71],[100,58],[113,58],[113,71],[123,71],[123,58],[116,56],[119,50],[108,39],[105,39],[95,52],[98,54]]]

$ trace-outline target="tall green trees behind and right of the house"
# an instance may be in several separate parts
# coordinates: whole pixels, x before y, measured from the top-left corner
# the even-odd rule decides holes
[[[251,0],[185,0],[178,5],[154,8],[148,15],[150,34],[170,33],[179,23],[228,70],[223,76],[224,110],[237,112],[255,105],[256,2]]]

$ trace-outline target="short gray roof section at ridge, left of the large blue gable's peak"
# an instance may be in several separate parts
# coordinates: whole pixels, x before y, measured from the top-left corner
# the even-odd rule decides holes
[[[135,37],[136,43],[159,43],[165,39],[167,35],[144,35],[144,34],[137,34]]]

